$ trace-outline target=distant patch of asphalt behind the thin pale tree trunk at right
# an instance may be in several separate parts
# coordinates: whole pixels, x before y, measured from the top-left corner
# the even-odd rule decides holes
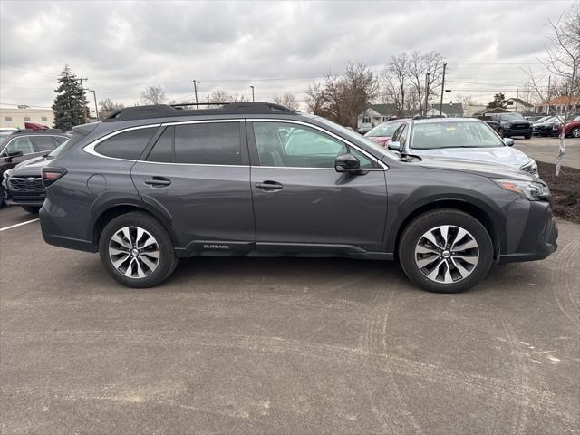
[[[517,150],[525,152],[535,160],[546,161],[547,163],[556,163],[560,140],[558,138],[541,138],[534,136],[532,139],[525,140],[514,138]],[[562,160],[564,166],[580,169],[580,139],[565,139],[565,156]]]

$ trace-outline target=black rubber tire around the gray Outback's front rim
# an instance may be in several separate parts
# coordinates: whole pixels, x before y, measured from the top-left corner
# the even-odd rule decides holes
[[[431,280],[421,272],[415,261],[415,248],[420,243],[423,235],[430,231],[431,228],[447,225],[467,230],[478,244],[477,265],[471,269],[469,275],[452,284],[443,284]],[[440,208],[414,218],[405,227],[399,242],[399,261],[411,282],[420,286],[420,288],[435,293],[459,293],[468,290],[488,275],[489,268],[493,262],[493,243],[491,237],[489,237],[488,230],[478,219],[457,209]]]

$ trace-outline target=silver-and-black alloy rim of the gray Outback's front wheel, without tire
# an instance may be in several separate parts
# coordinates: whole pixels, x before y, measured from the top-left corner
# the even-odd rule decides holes
[[[467,278],[479,261],[479,247],[468,230],[442,225],[426,231],[415,247],[415,264],[431,281],[453,284]]]

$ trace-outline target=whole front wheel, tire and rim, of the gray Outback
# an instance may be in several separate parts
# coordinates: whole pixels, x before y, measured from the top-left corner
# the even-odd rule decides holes
[[[458,293],[488,275],[493,244],[478,219],[441,208],[420,215],[405,228],[399,259],[414,284],[430,292]]]

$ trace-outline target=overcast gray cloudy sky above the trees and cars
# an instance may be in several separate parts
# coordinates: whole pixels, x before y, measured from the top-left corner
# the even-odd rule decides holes
[[[572,1],[153,2],[0,1],[0,103],[49,107],[68,63],[99,100],[135,104],[160,84],[171,100],[221,89],[256,101],[292,92],[349,61],[376,73],[401,52],[449,63],[446,101],[515,95],[537,62],[547,20]]]

